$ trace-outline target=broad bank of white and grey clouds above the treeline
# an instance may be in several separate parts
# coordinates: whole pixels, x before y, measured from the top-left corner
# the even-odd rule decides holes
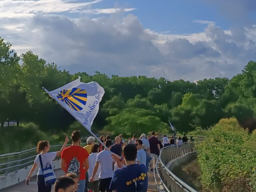
[[[54,15],[63,11],[111,14],[133,8],[92,9],[73,0],[0,1],[3,2],[9,7],[3,9],[0,5],[0,34],[13,44],[15,51],[21,54],[32,50],[71,73],[93,74],[97,70],[107,75],[193,81],[232,77],[241,72],[248,60],[256,60],[256,26],[222,30],[211,23],[200,33],[170,35],[145,29],[132,14],[94,19]],[[53,2],[61,6],[57,8]],[[12,15],[6,16],[2,11]]]

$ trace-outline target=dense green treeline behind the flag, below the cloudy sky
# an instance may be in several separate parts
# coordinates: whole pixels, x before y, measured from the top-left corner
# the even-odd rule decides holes
[[[92,130],[112,134],[171,132],[168,120],[180,133],[208,127],[221,118],[235,117],[242,127],[255,128],[256,63],[241,74],[192,83],[165,78],[108,77],[100,72],[70,74],[31,51],[18,56],[0,38],[0,121],[33,122],[44,132],[67,132],[75,119],[41,87],[51,91],[81,76],[105,90]],[[73,126],[74,127],[74,126]]]

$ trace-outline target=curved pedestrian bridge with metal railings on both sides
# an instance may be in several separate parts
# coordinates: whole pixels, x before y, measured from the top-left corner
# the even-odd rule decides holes
[[[203,139],[202,137],[195,138]],[[81,145],[86,145],[86,143],[81,143]],[[59,151],[61,147],[62,145],[51,146],[50,151]],[[194,143],[192,142],[162,148],[156,162],[156,168],[153,172],[149,171],[148,173],[148,191],[196,192],[171,172],[172,166],[184,162],[195,153]],[[29,186],[24,184],[36,155],[36,148],[0,155],[0,192],[34,192],[37,190],[36,177],[32,178]],[[63,175],[60,170],[61,161],[59,158],[53,161],[53,168],[56,176]],[[34,171],[32,176],[35,176],[36,173],[37,171]]]

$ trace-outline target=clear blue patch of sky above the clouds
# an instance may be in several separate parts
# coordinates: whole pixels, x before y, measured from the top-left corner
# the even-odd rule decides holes
[[[230,28],[228,21],[217,11],[216,6],[203,0],[107,0],[92,5],[92,8],[136,8],[126,14],[134,14],[145,28],[169,34],[186,34],[204,31],[206,24],[194,20],[214,21],[222,29]],[[221,16],[222,15],[222,16]]]

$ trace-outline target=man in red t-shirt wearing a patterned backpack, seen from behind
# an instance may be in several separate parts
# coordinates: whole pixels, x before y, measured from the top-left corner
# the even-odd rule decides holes
[[[85,173],[89,169],[89,161],[88,161],[88,152],[86,149],[80,146],[81,133],[76,130],[72,132],[72,145],[65,148],[61,154],[61,169],[67,172],[74,172],[75,168],[78,166],[78,162],[80,163],[80,168],[76,170],[74,173],[79,174],[79,186],[77,192],[84,192],[85,187]],[[72,163],[75,163],[73,165]]]

